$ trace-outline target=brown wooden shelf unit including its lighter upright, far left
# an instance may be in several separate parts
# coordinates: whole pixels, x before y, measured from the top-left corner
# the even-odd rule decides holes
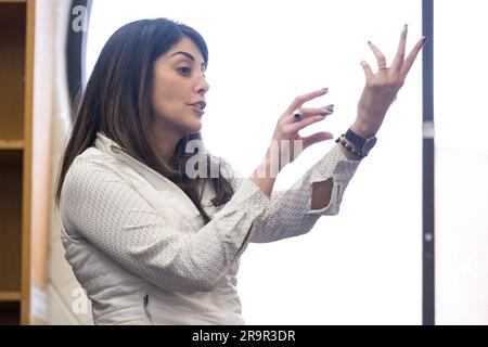
[[[28,324],[34,2],[0,0],[0,324]]]

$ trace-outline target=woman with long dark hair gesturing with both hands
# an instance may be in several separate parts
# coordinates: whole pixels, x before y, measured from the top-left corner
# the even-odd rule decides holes
[[[338,213],[425,41],[403,57],[406,38],[407,26],[390,67],[370,43],[378,72],[361,63],[367,85],[352,126],[294,187],[272,192],[275,174],[300,152],[287,141],[306,149],[332,138],[298,134],[332,114],[332,105],[303,107],[326,89],[295,99],[246,179],[201,142],[204,39],[165,18],[118,29],[77,107],[56,188],[66,259],[94,323],[243,324],[235,290],[242,253],[249,242],[304,234]]]

